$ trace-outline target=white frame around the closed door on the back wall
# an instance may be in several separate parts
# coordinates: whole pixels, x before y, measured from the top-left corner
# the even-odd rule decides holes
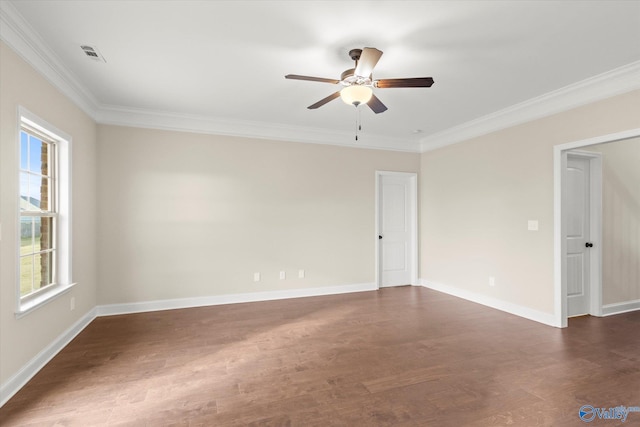
[[[384,176],[400,176],[406,177],[409,179],[409,203],[411,204],[409,210],[409,221],[411,223],[411,227],[413,232],[411,233],[411,241],[409,242],[409,260],[411,262],[411,266],[409,270],[411,271],[411,285],[418,285],[418,174],[415,172],[393,172],[393,171],[376,171],[375,173],[375,233],[374,233],[374,241],[375,241],[375,283],[376,288],[380,289],[382,284],[382,273],[380,269],[382,268],[382,263],[380,262],[380,239],[378,236],[380,235],[380,202],[382,201],[382,197],[380,192],[382,191],[382,186],[380,185],[382,178]]]

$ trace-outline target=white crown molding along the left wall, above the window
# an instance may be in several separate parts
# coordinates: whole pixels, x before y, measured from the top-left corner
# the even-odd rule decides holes
[[[0,2],[0,40],[95,120],[98,102],[8,1]]]

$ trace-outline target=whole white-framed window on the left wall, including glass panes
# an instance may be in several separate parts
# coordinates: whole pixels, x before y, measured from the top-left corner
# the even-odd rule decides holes
[[[20,109],[18,314],[71,287],[70,138]]]

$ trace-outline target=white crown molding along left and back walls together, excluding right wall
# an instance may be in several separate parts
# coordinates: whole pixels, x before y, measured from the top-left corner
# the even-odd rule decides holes
[[[86,89],[49,49],[9,1],[0,2],[0,39],[42,74],[80,109],[100,124],[174,130],[247,138],[284,140],[403,152],[419,152],[415,140],[367,135],[354,141],[353,133],[251,121],[143,110],[105,105]]]

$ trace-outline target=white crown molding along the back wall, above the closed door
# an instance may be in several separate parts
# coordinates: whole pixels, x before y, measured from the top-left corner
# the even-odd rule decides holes
[[[243,120],[226,120],[208,116],[188,115],[176,112],[102,106],[97,115],[101,124],[193,132],[211,135],[227,135],[243,138],[336,145],[351,148],[369,148],[402,152],[419,152],[419,143],[381,135],[360,134],[354,140],[351,132],[296,127],[278,123]]]

